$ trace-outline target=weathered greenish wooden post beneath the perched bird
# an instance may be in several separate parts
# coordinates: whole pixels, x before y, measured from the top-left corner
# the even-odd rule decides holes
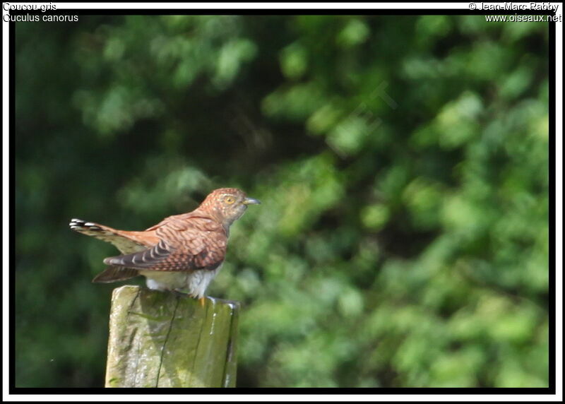
[[[237,302],[114,289],[106,387],[234,387],[238,314]]]

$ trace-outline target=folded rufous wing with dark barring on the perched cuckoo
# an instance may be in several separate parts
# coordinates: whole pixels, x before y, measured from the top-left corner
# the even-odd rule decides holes
[[[112,266],[152,271],[215,269],[224,260],[227,237],[207,218],[169,220],[156,230],[160,242],[150,249],[104,260]]]

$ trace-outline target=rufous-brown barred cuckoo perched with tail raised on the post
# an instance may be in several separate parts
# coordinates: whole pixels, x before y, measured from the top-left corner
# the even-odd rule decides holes
[[[230,226],[247,206],[261,203],[237,188],[210,192],[198,208],[169,216],[141,232],[71,219],[71,230],[114,244],[121,255],[104,259],[94,283],[144,275],[149,289],[184,293],[203,305],[206,288],[225,259]]]

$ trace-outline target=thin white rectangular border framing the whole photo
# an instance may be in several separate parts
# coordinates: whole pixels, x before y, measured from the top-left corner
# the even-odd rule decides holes
[[[44,4],[37,2],[21,2],[17,3],[24,4]],[[477,2],[479,4],[480,2]],[[16,4],[14,2],[13,4]],[[326,9],[326,8],[339,8],[339,9],[374,9],[374,10],[386,10],[391,8],[403,8],[403,9],[459,9],[468,10],[470,3],[59,3],[54,2],[57,6],[57,10],[65,9],[150,9],[150,10],[160,10],[160,9],[240,9],[242,11],[255,9],[255,8],[265,8],[265,9]],[[481,3],[482,4],[482,3]],[[516,3],[516,4],[529,4],[529,3]],[[545,3],[547,4],[547,2]],[[551,3],[552,5],[559,5],[557,10],[557,15],[563,18],[563,6],[559,3]],[[4,14],[4,9],[2,10]],[[2,179],[3,179],[3,198],[2,198],[2,218],[4,219],[4,226],[2,227],[3,243],[3,268],[2,272],[2,302],[4,304],[3,308],[3,321],[4,330],[9,330],[9,278],[8,271],[11,271],[8,262],[8,240],[9,240],[9,228],[8,224],[10,222],[8,203],[9,203],[9,41],[10,34],[8,30],[8,23],[2,22],[3,31],[3,47],[2,47],[2,81],[4,84],[4,91],[2,93],[3,99],[3,125],[2,125]],[[2,349],[3,349],[3,361],[2,369],[4,371],[3,383],[2,383],[2,395],[3,400],[6,401],[37,401],[39,398],[42,401],[84,401],[84,400],[120,400],[120,401],[178,401],[187,400],[190,401],[264,401],[264,400],[287,400],[287,401],[561,401],[563,398],[563,348],[562,348],[562,336],[563,336],[563,251],[561,246],[563,246],[563,117],[561,112],[563,111],[563,23],[556,23],[556,35],[555,35],[555,84],[556,84],[556,102],[555,102],[555,162],[556,162],[556,238],[555,238],[555,251],[556,251],[556,276],[555,276],[555,292],[556,292],[556,394],[555,395],[504,395],[504,394],[278,394],[276,396],[267,394],[89,394],[87,396],[82,394],[53,394],[49,396],[41,395],[28,395],[28,394],[17,394],[11,395],[8,392],[8,374],[9,374],[9,364],[8,364],[8,352],[9,352],[9,335],[10,333],[4,332],[2,334]]]

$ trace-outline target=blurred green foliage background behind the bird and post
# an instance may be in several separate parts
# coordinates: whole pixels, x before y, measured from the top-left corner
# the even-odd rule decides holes
[[[548,386],[548,25],[16,23],[16,386],[102,386],[117,250],[237,186],[238,386]],[[143,284],[143,278],[133,282]]]

